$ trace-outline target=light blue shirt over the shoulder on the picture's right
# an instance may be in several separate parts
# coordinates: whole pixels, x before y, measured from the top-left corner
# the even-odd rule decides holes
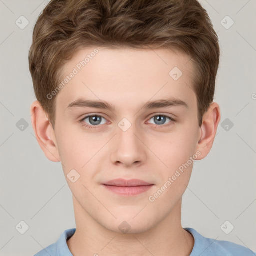
[[[190,232],[195,240],[190,256],[256,256],[252,250],[239,244],[204,237],[193,228],[184,229]]]

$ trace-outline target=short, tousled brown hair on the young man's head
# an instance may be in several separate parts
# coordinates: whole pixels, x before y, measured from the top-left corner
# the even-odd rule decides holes
[[[77,50],[91,46],[169,48],[194,63],[198,123],[213,101],[219,44],[197,0],[51,0],[39,15],[29,50],[37,100],[55,125],[61,68]]]

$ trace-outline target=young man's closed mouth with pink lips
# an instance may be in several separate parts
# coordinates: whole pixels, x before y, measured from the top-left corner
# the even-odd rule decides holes
[[[121,196],[135,196],[146,192],[152,188],[152,186],[154,186],[154,184],[140,179],[113,179],[101,185],[103,185],[108,191],[114,192],[115,194]]]

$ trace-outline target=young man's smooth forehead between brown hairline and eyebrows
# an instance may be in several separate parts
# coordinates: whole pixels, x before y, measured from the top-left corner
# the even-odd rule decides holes
[[[192,104],[193,80],[192,61],[180,51],[90,47],[64,65],[56,101],[63,108],[85,97],[131,108],[173,96]]]

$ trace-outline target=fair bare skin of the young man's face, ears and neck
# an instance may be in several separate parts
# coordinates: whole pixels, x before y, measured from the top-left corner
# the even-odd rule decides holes
[[[62,78],[93,49],[76,52],[65,64]],[[189,255],[194,239],[181,226],[181,201],[193,161],[158,198],[153,202],[148,198],[189,157],[197,152],[200,160],[209,153],[220,121],[219,105],[210,105],[199,127],[192,61],[179,51],[97,49],[99,53],[58,92],[54,130],[38,101],[30,108],[38,143],[50,161],[61,162],[73,195],[76,232],[68,247],[76,256]],[[169,75],[175,66],[183,73],[176,81]],[[149,100],[169,96],[183,100],[188,108],[141,109]],[[106,101],[115,110],[68,109],[79,97]],[[96,125],[89,118],[83,120],[95,129],[79,122],[89,114],[102,116]],[[152,118],[159,115],[175,121],[166,117],[161,124]],[[123,118],[131,124],[126,131],[118,126]],[[74,183],[67,178],[71,169],[80,175]],[[154,185],[125,197],[100,185],[115,178],[137,178]],[[118,228],[123,221],[130,226],[127,233]]]

